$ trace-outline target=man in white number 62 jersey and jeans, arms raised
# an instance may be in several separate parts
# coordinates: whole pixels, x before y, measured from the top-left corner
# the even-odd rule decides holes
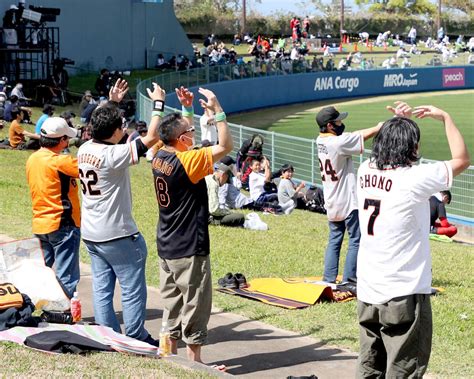
[[[96,322],[121,332],[113,307],[118,280],[125,334],[156,345],[144,327],[147,248],[132,217],[128,167],[137,164],[139,157],[159,140],[165,92],[155,83],[153,92],[148,90],[156,110],[147,135],[118,144],[124,136],[118,103],[127,91],[124,80],[118,80],[111,88],[109,102],[92,114],[92,140],[77,153],[83,194],[82,238],[91,257]]]

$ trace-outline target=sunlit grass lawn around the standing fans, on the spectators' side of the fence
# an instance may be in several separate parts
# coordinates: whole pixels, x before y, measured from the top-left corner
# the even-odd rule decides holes
[[[4,135],[5,130],[0,132],[0,138]],[[24,174],[29,154],[26,151],[0,151],[0,217],[3,220],[0,233],[12,237],[31,236],[31,203]],[[157,286],[155,235],[158,212],[149,164],[141,162],[131,169],[131,175],[134,216],[149,248],[147,278],[150,285]],[[248,279],[322,274],[328,235],[325,216],[296,210],[289,216],[262,218],[269,225],[267,232],[210,227],[214,283],[227,272],[242,272]],[[473,377],[472,247],[439,242],[431,242],[431,246],[433,284],[444,287],[446,292],[432,299],[434,338],[429,372],[444,378]],[[87,261],[84,250],[82,258]],[[214,305],[318,338],[330,345],[358,350],[355,302],[324,303],[290,311],[215,293]],[[38,370],[48,376],[72,376],[84,370],[94,376],[195,377],[194,373],[186,376],[188,373],[180,369],[169,368],[164,362],[118,354],[51,359],[12,344],[0,345],[0,351],[4,357],[0,372],[4,374],[27,375],[34,367],[35,372]],[[12,361],[15,365],[6,363]],[[121,371],[113,371],[118,370],[117,367]]]

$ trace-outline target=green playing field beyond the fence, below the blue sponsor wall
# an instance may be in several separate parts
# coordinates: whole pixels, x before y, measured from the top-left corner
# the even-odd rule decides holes
[[[385,110],[385,106],[393,105],[395,100],[407,101],[412,106],[431,104],[446,110],[453,116],[456,125],[464,135],[468,147],[470,147],[471,152],[473,151],[473,90],[295,104],[232,115],[229,117],[229,121],[297,137],[315,138],[319,132],[315,116],[320,107],[330,104],[335,105],[341,112],[349,112],[349,116],[344,123],[347,131],[354,131],[388,119],[391,113]],[[441,123],[433,120],[420,120],[419,125],[422,130],[421,152],[423,157],[436,160],[447,159],[450,156],[449,147]],[[370,142],[367,144],[367,148],[370,149]]]

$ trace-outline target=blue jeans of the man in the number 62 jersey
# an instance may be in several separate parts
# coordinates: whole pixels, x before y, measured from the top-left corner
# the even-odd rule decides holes
[[[148,337],[145,329],[147,248],[140,233],[107,242],[85,241],[91,257],[94,317],[100,325],[121,333],[114,310],[115,281],[122,290],[125,334],[138,340]]]

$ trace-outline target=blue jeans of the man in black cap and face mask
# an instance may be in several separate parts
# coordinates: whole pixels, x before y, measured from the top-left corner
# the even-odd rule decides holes
[[[342,281],[349,278],[355,279],[357,271],[357,253],[359,252],[360,229],[359,212],[355,209],[344,221],[329,221],[329,242],[324,257],[324,276],[326,282],[335,282],[339,271],[339,256],[344,239],[344,232],[349,234],[349,247],[347,249],[346,263]]]

